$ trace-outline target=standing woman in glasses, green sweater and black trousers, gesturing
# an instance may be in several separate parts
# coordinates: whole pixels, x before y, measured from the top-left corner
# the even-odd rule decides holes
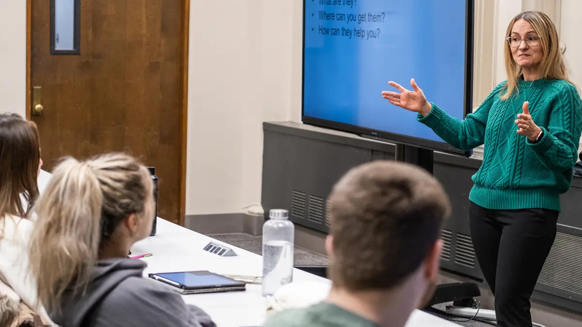
[[[460,150],[484,144],[473,176],[469,221],[475,255],[495,295],[498,326],[530,326],[530,296],[556,236],[560,194],[572,182],[582,101],[567,79],[556,27],[541,12],[513,18],[506,33],[507,80],[463,121],[393,81],[391,104],[418,113]]]

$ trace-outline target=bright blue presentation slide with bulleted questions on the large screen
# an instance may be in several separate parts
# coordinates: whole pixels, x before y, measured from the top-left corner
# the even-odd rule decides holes
[[[389,80],[463,119],[466,0],[306,0],[303,115],[443,142]]]

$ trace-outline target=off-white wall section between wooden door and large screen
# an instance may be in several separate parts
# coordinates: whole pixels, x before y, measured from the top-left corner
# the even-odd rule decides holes
[[[187,215],[260,202],[262,122],[300,119],[301,15],[300,1],[191,1]]]

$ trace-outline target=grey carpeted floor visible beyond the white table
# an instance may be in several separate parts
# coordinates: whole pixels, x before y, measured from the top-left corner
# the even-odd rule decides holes
[[[252,236],[249,234],[211,234],[208,235],[214,239],[223,241],[233,246],[243,248],[244,250],[256,253],[258,255],[262,254],[262,237]],[[328,257],[313,251],[306,250],[301,247],[295,247],[295,265],[328,265]],[[434,310],[431,314],[438,315],[439,317],[449,319],[456,324],[467,327],[490,327],[491,324],[486,324],[479,321],[463,321],[464,318],[450,317],[445,314],[445,305],[450,305],[449,303],[438,304],[434,306]],[[463,321],[463,322],[461,322]]]

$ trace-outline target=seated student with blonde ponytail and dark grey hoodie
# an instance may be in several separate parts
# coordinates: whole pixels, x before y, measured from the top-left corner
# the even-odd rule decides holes
[[[65,159],[34,211],[30,265],[56,324],[214,326],[178,293],[144,279],[143,261],[127,258],[132,244],[150,234],[154,216],[150,174],[133,158]]]

